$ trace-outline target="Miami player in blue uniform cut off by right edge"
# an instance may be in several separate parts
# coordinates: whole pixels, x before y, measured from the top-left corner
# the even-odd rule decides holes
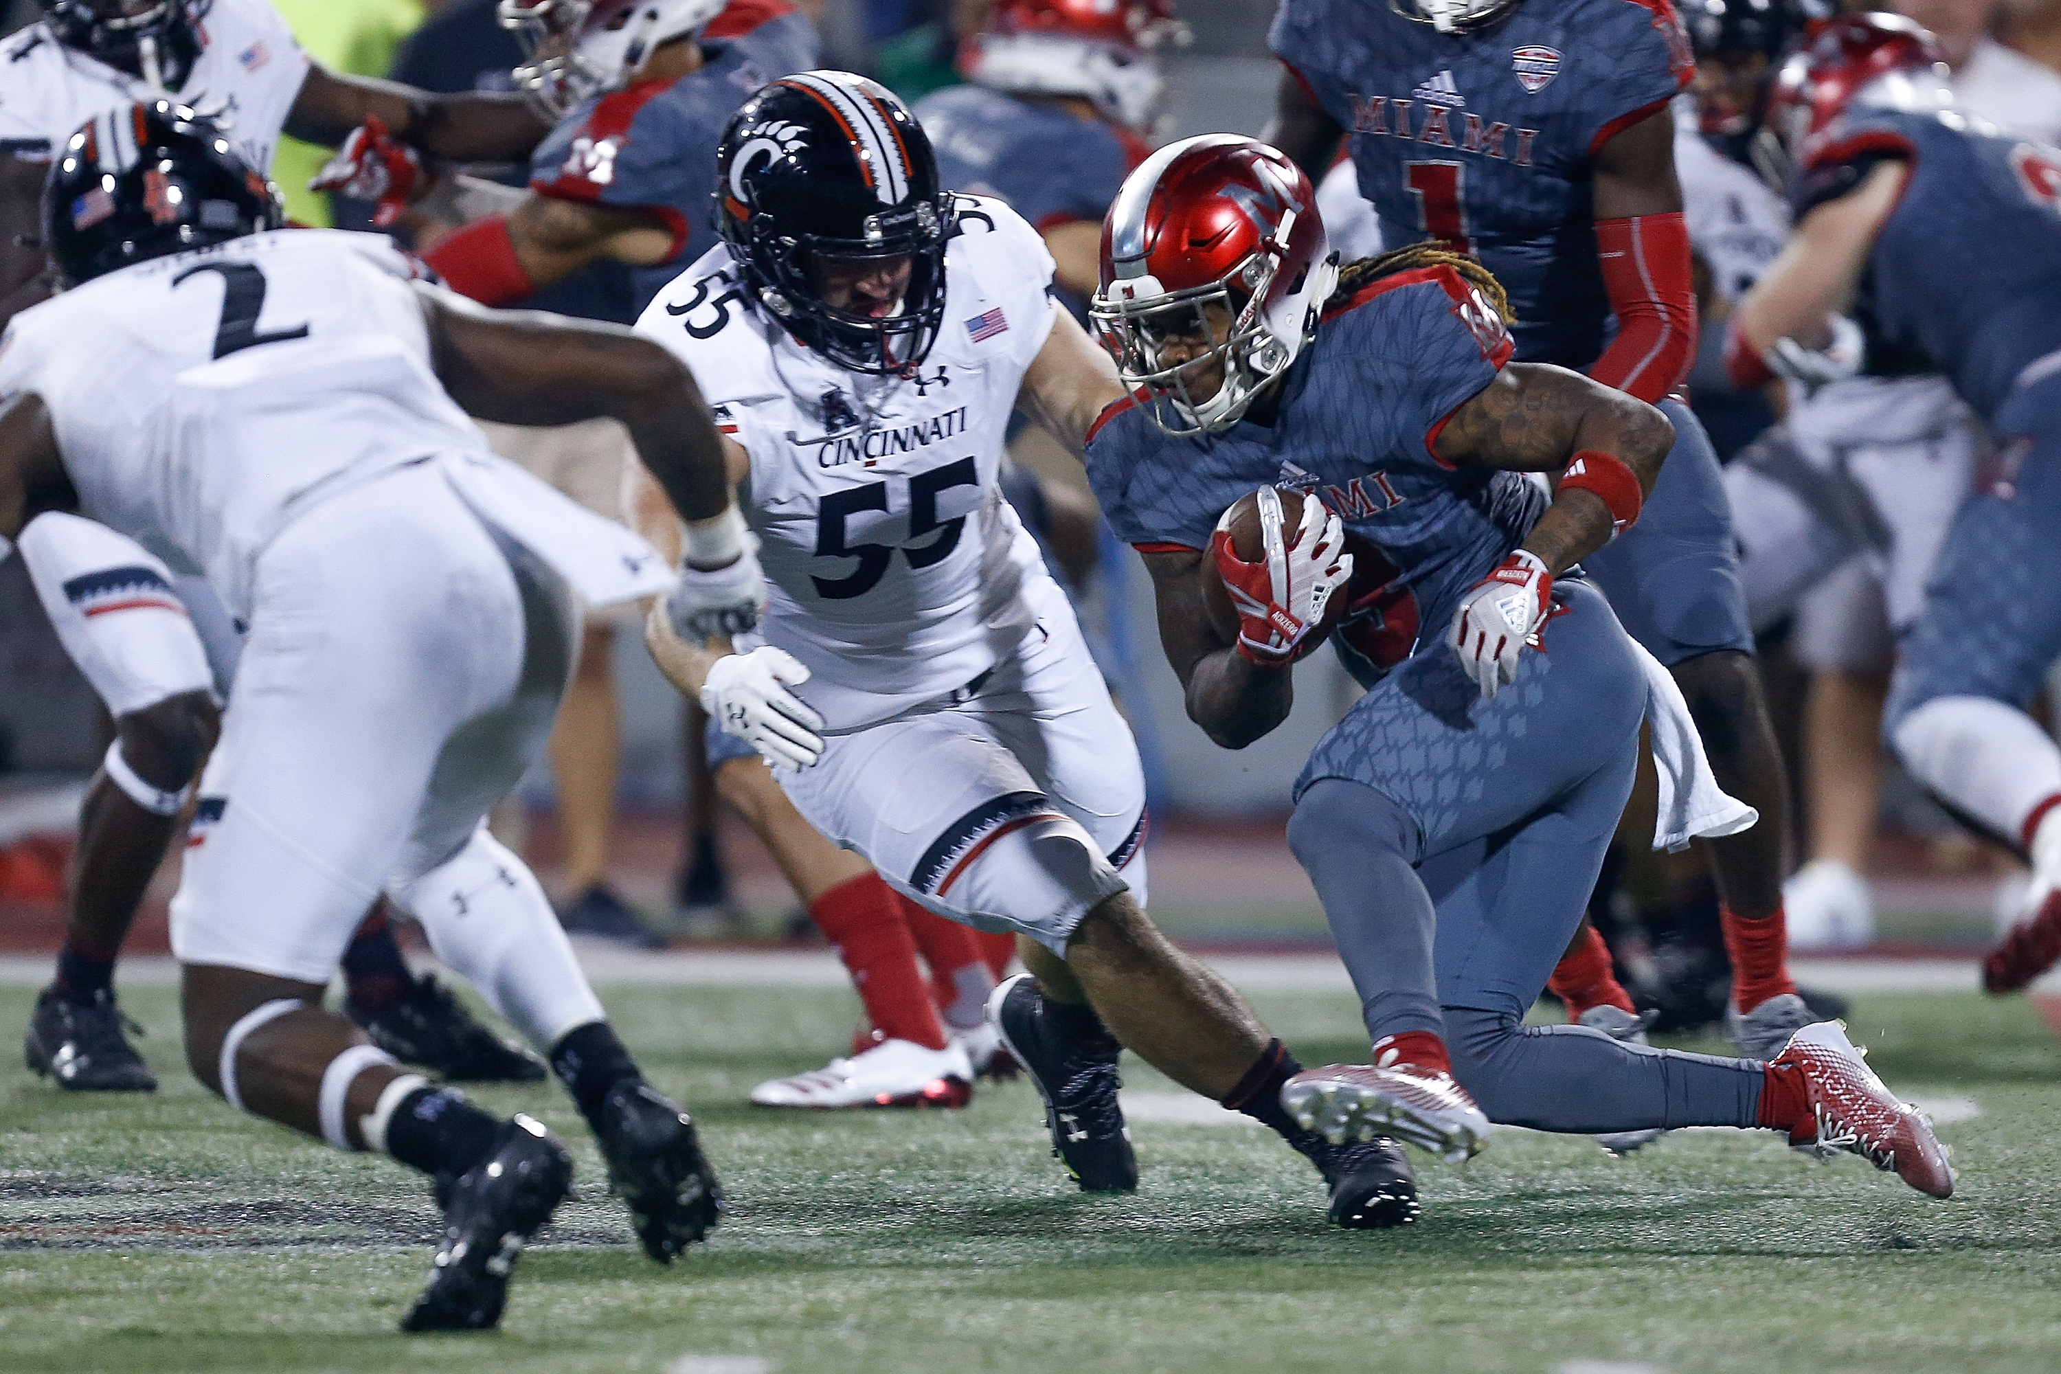
[[[1892,14],[1818,31],[1768,113],[1797,233],[1733,317],[1742,383],[1923,358],[1995,437],[1902,643],[1884,740],[1958,816],[2032,859],[2026,921],[1983,964],[2014,991],[2061,954],[2061,750],[2026,705],[2061,655],[2040,585],[2061,501],[2061,152],[1954,107],[1933,37]],[[1939,257],[1944,243],[2009,245]]]

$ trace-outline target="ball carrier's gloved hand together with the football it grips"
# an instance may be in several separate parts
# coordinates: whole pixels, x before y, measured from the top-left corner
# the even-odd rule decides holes
[[[1346,610],[1346,527],[1315,496],[1274,486],[1241,496],[1216,521],[1210,554],[1204,606],[1220,632],[1237,626],[1239,653],[1261,667],[1300,659]]]

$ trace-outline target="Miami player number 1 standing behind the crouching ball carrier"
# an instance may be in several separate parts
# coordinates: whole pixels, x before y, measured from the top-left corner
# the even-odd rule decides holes
[[[1696,354],[1669,101],[1694,72],[1669,0],[1286,0],[1276,142],[1315,179],[1350,134],[1387,247],[1437,241],[1511,293],[1517,356],[1657,404],[1678,449],[1638,529],[1589,560],[1764,824],[1709,840],[1742,1055],[1812,1020],[1783,937],[1785,775],[1760,696],[1717,455],[1674,400]],[[1614,321],[1614,332],[1612,332]],[[1632,1009],[1587,931],[1556,987]],[[1630,1016],[1616,1032],[1636,1036]]]

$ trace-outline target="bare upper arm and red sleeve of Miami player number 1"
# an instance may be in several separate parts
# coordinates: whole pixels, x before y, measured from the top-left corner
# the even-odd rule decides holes
[[[1696,360],[1696,284],[1667,105],[1595,152],[1595,251],[1618,336],[1589,375],[1657,402]]]

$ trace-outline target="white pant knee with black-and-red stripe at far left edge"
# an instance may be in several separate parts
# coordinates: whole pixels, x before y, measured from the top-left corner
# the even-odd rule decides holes
[[[21,531],[21,556],[64,651],[109,715],[214,690],[171,571],[140,544],[91,519],[47,513]]]

